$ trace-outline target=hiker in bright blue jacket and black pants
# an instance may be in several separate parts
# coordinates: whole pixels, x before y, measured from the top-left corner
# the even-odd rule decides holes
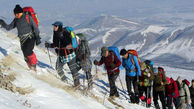
[[[141,76],[141,69],[138,63],[137,57],[135,55],[130,54],[126,49],[122,49],[120,51],[120,55],[122,56],[122,65],[126,70],[126,85],[129,97],[132,103],[139,103],[139,91],[138,91],[138,81],[139,76]],[[132,86],[134,88],[134,92],[132,92]]]

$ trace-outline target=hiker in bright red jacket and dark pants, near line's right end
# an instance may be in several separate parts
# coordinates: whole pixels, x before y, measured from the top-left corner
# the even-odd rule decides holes
[[[165,90],[166,90],[168,109],[173,109],[172,103],[174,103],[177,109],[180,106],[179,90],[178,90],[177,83],[173,80],[173,78],[167,77],[167,85],[165,87]]]

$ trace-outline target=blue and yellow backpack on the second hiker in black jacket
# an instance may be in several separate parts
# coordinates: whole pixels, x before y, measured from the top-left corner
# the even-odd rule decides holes
[[[73,28],[72,27],[69,27],[69,26],[66,26],[66,27],[64,27],[64,30],[66,30],[70,34],[70,36],[71,36],[72,47],[73,48],[77,48],[78,42],[77,42],[76,35],[73,32]]]

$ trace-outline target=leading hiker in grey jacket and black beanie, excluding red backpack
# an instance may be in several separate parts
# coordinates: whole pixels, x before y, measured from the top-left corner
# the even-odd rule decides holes
[[[37,58],[33,49],[35,42],[36,45],[41,43],[39,29],[31,16],[29,16],[29,22],[27,21],[26,14],[23,13],[20,5],[15,6],[14,15],[15,18],[11,24],[7,25],[4,20],[0,19],[0,25],[6,30],[17,28],[24,59],[28,67],[36,71]]]

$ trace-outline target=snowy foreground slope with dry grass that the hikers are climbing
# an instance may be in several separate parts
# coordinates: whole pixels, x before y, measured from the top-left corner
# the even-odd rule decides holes
[[[120,98],[113,102],[108,101],[109,85],[103,69],[98,68],[98,79],[94,81],[94,88],[84,94],[80,90],[71,88],[73,82],[71,73],[67,67],[65,72],[68,83],[61,82],[56,77],[56,71],[49,65],[47,51],[35,47],[34,52],[38,57],[38,73],[28,70],[23,60],[19,41],[15,35],[0,29],[0,65],[5,68],[5,74],[14,73],[17,87],[30,88],[32,93],[20,95],[0,89],[0,109],[144,109],[141,105],[130,104],[128,96],[123,92],[119,80],[116,84],[119,88]],[[54,66],[56,55],[51,53],[52,65]],[[4,66],[5,65],[5,66]],[[93,69],[93,75],[95,74]],[[83,72],[80,71],[81,84],[83,84]],[[124,73],[121,73],[124,80]],[[86,83],[85,83],[86,85]]]

